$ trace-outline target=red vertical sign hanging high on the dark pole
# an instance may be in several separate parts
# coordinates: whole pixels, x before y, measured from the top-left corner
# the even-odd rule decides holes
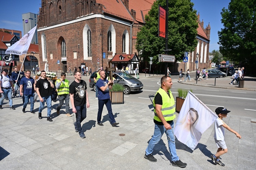
[[[159,15],[158,15],[158,36],[166,37],[166,9],[159,5]]]

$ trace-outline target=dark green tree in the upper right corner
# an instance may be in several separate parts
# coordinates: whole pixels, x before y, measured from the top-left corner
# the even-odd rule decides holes
[[[256,0],[231,0],[223,8],[224,28],[218,31],[219,51],[223,56],[245,66],[248,72],[256,64]]]

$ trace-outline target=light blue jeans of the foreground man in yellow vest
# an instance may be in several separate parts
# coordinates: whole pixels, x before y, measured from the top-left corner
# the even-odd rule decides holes
[[[173,129],[174,122],[172,121],[170,125]],[[168,146],[169,146],[169,151],[172,156],[172,161],[175,162],[177,160],[180,160],[176,153],[175,138],[174,138],[172,130],[171,129],[166,130],[164,125],[158,125],[158,124],[155,124],[154,135],[153,135],[152,139],[150,140],[150,142],[148,143],[148,146],[146,149],[146,155],[149,155],[153,152],[155,145],[160,141],[163,133],[166,133],[166,136],[167,136]]]

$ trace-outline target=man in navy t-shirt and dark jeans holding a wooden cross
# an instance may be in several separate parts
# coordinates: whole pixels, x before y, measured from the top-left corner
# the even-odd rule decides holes
[[[101,115],[103,111],[104,105],[106,105],[106,108],[109,113],[109,118],[111,120],[111,125],[116,126],[119,123],[115,121],[113,112],[112,112],[112,107],[111,107],[111,101],[110,101],[110,95],[109,95],[109,89],[112,89],[112,83],[113,80],[106,80],[105,79],[105,71],[100,71],[100,79],[97,81],[96,85],[99,89],[98,91],[98,104],[99,104],[99,109],[98,109],[98,116],[97,116],[97,124],[100,126],[103,126],[101,122]]]

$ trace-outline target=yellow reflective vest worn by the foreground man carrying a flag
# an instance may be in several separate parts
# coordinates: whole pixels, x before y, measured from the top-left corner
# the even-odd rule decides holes
[[[172,96],[171,91],[169,90],[170,97],[168,96],[167,92],[163,90],[161,87],[159,90],[156,92],[156,94],[159,93],[162,96],[162,108],[161,112],[163,114],[163,117],[165,118],[166,121],[171,121],[176,118],[175,115],[175,103],[174,103],[174,98]],[[154,105],[154,119],[158,122],[161,122],[161,120],[157,117],[156,114],[156,105],[155,105],[155,98],[153,100],[153,105]]]

